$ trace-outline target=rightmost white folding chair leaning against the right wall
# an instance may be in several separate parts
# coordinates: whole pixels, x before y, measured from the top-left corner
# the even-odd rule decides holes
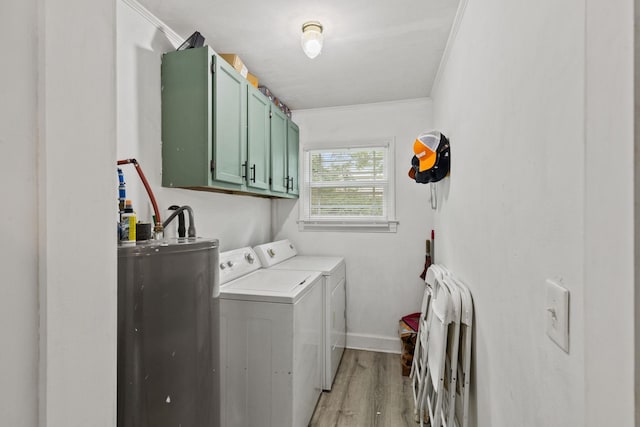
[[[460,348],[457,361],[456,405],[454,425],[469,425],[469,381],[471,378],[471,337],[473,332],[473,299],[464,283],[450,278],[460,289]]]

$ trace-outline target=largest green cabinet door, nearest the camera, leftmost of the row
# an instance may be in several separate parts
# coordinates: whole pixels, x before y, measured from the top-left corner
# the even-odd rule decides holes
[[[243,184],[247,81],[221,57],[213,61],[213,179]]]

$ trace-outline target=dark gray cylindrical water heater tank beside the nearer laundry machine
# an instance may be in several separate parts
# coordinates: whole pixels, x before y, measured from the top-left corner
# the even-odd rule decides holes
[[[219,427],[218,241],[118,248],[118,427]]]

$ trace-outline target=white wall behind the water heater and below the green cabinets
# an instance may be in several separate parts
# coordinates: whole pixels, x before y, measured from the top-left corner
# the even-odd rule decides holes
[[[268,242],[271,237],[269,199],[161,186],[160,61],[162,53],[175,50],[181,43],[176,40],[181,38],[133,2],[117,1],[117,21],[118,159],[135,158],[140,162],[163,219],[169,206],[186,204],[194,210],[198,236],[220,239],[221,250]],[[139,220],[150,222],[153,211],[133,166],[122,169],[127,197],[132,199]],[[113,189],[115,220],[115,167]]]

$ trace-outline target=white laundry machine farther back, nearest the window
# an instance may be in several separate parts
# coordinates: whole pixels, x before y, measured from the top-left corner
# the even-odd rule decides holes
[[[264,268],[320,271],[323,275],[322,388],[331,390],[347,344],[346,265],[344,258],[298,255],[287,239],[255,248]]]

